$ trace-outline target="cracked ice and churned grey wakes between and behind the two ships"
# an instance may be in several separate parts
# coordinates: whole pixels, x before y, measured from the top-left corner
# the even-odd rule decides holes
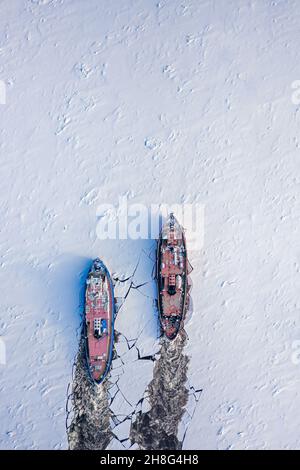
[[[70,449],[180,449],[201,390],[187,385],[184,330],[160,337],[153,256],[114,273],[118,313],[105,382],[91,383],[81,338],[67,403]],[[70,406],[70,402],[72,406]]]

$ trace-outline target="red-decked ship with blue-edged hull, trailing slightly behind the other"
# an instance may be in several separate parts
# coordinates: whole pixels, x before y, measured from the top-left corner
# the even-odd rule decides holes
[[[115,301],[110,274],[96,259],[87,276],[85,291],[85,345],[91,380],[100,385],[112,361]]]

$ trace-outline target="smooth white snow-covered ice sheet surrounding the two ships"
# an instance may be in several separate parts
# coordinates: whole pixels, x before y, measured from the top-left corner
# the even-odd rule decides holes
[[[90,261],[130,275],[153,243],[97,238],[122,195],[205,205],[184,448],[300,448],[299,22],[297,0],[0,2],[0,448],[67,447]],[[148,353],[154,313],[132,305]]]

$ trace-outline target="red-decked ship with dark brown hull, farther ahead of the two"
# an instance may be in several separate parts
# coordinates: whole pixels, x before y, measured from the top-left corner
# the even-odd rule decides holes
[[[188,260],[184,231],[172,214],[158,239],[157,288],[161,330],[173,340],[187,310]]]

